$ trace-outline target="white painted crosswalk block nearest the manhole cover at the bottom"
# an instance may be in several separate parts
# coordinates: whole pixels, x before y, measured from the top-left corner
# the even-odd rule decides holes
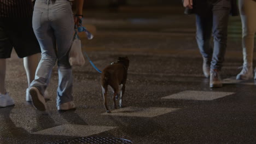
[[[44,129],[37,131],[32,134],[40,135],[61,135],[61,136],[90,136],[99,134],[104,131],[112,130],[118,127],[106,127],[106,126],[91,126],[91,125],[80,125],[80,124],[63,124],[57,127]]]

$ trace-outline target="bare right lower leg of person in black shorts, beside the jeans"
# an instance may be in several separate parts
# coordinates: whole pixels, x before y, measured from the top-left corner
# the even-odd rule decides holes
[[[39,62],[39,53],[36,53],[28,57],[24,57],[23,59],[24,68],[26,70],[26,75],[27,75],[28,87],[30,87],[30,83],[34,80],[34,75],[36,74],[38,62]]]

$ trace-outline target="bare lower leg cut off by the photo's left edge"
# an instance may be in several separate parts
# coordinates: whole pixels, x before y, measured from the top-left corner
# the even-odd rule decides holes
[[[6,71],[6,60],[0,58],[0,94],[5,94],[5,71]]]

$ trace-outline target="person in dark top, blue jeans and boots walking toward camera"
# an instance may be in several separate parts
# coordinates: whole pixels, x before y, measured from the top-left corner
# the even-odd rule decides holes
[[[203,59],[203,74],[210,87],[222,87],[222,69],[228,36],[229,14],[236,16],[236,0],[184,0],[185,13],[196,15],[196,40]],[[211,45],[213,35],[214,46]]]

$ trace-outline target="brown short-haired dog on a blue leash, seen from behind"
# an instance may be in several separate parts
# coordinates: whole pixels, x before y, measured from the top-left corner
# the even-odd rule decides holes
[[[108,113],[110,113],[107,106],[108,85],[112,87],[114,92],[113,101],[114,101],[115,109],[117,109],[117,103],[115,103],[115,100],[118,99],[119,85],[121,85],[119,106],[123,107],[122,97],[125,92],[125,83],[127,79],[128,67],[129,67],[128,57],[118,57],[118,61],[116,63],[112,63],[111,65],[108,65],[102,71],[101,86],[102,86],[102,93],[103,93],[103,99],[104,99],[104,106]]]

